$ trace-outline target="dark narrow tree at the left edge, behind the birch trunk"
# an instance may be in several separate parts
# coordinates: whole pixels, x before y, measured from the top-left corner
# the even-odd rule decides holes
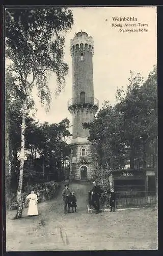
[[[11,73],[6,73],[6,90],[5,90],[5,136],[6,136],[6,195],[10,194],[12,185],[12,170],[16,167],[17,152],[20,148],[20,112],[21,102],[24,95],[16,90],[14,77]],[[16,169],[15,169],[16,170]],[[9,199],[9,198],[8,198]]]

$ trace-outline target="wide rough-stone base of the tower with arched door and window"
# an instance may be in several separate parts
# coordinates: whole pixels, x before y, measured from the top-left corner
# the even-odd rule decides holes
[[[90,142],[71,143],[70,180],[91,180],[96,165]]]

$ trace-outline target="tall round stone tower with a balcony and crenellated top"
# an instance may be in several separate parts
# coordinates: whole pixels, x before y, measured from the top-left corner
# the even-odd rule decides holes
[[[72,114],[72,140],[70,144],[70,180],[90,180],[94,169],[91,156],[89,130],[83,123],[90,123],[98,110],[98,100],[93,89],[93,38],[78,32],[71,39],[72,99],[68,110]]]

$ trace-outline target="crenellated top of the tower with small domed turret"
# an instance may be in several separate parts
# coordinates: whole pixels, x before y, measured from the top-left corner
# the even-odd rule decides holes
[[[77,48],[79,49],[79,51],[82,49],[84,51],[88,50],[92,52],[92,54],[94,53],[93,37],[88,36],[88,34],[82,30],[80,32],[75,33],[74,38],[70,41],[70,45],[71,56],[74,50],[76,50]]]

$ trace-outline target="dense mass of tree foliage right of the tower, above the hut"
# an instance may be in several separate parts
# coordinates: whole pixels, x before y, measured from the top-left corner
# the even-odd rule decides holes
[[[157,144],[157,73],[154,66],[144,82],[131,72],[127,90],[117,90],[117,104],[103,104],[91,124],[89,140],[105,169],[155,166]],[[152,159],[152,160],[151,160]],[[152,161],[152,163],[151,163]],[[149,162],[149,163],[148,163]]]

